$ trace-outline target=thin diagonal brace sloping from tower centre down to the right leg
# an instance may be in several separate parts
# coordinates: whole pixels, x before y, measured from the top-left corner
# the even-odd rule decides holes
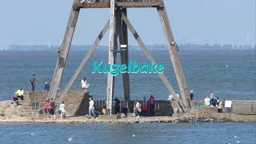
[[[130,32],[134,35],[134,38],[136,39],[136,41],[138,42],[139,46],[141,46],[142,51],[144,52],[144,54],[146,55],[146,57],[151,60],[154,64],[157,64],[157,62],[154,60],[152,54],[150,54],[150,51],[147,50],[146,45],[144,44],[144,42],[142,42],[142,39],[139,37],[138,33],[136,32],[136,30],[134,29],[134,26],[131,25],[130,21],[128,20],[128,18],[126,18],[125,14],[122,14],[122,20],[124,22],[126,22],[126,26],[128,26]],[[175,90],[173,88],[173,86],[170,85],[170,82],[168,81],[168,79],[166,78],[166,76],[163,73],[158,73],[158,76],[161,78],[162,82],[166,85],[167,90],[170,92],[170,94],[172,94],[174,96],[174,98],[182,103],[180,101],[180,99],[177,97],[177,95],[175,94]],[[183,107],[181,106],[182,110]]]

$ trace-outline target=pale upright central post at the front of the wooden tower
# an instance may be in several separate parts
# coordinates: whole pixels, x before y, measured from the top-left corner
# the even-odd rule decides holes
[[[108,64],[114,64],[114,34],[115,34],[115,0],[110,0],[110,36],[109,36],[109,58]],[[112,70],[112,68],[110,68]],[[107,74],[106,88],[106,110],[107,114],[112,113],[112,99],[114,95],[114,76]]]

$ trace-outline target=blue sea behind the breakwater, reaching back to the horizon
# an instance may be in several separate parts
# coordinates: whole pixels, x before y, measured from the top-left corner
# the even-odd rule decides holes
[[[72,51],[64,71],[61,88],[69,81],[86,51]],[[166,66],[164,74],[174,89],[178,90],[174,71],[167,51],[153,51],[158,63]],[[209,90],[220,98],[256,98],[256,50],[180,50],[180,57],[190,90],[195,98],[204,98]],[[30,90],[29,78],[36,74],[36,90],[43,90],[44,82],[50,82],[57,58],[56,51],[1,51],[0,52],[0,100],[12,98],[17,89]],[[120,58],[118,57],[118,60]],[[147,62],[142,51],[130,51],[130,59]],[[106,74],[92,74],[94,60],[107,63],[107,52],[98,50],[82,70],[72,89],[80,89],[80,80],[86,76],[90,94],[95,99],[106,97]],[[120,61],[119,61],[120,62]],[[115,96],[122,98],[122,75],[115,80]],[[149,97],[166,99],[168,91],[157,74],[130,74],[131,98]]]

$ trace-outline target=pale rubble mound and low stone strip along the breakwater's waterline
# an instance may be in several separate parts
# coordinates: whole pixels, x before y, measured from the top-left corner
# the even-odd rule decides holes
[[[212,110],[212,109],[211,109]],[[27,115],[26,106],[15,106],[12,101],[0,102],[0,122],[38,122],[38,123],[173,123],[173,122],[232,122],[228,118],[214,118],[204,110],[202,113],[194,114],[174,114],[173,116],[155,116],[134,118],[129,114],[128,118],[102,119],[88,118],[88,116],[70,116],[66,119],[34,118]],[[123,115],[122,115],[123,116]]]

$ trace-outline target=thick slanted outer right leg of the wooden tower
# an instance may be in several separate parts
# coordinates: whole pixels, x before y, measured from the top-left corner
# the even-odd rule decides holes
[[[174,36],[170,29],[170,23],[168,20],[165,6],[158,7],[158,15],[162,24],[162,30],[166,36],[168,51],[170,54],[171,62],[174,66],[174,73],[177,78],[178,87],[182,94],[182,102],[186,107],[190,107],[192,105],[190,102],[189,91],[187,89],[186,79],[182,70],[182,64],[179,60],[178,47],[176,42],[174,41]]]

